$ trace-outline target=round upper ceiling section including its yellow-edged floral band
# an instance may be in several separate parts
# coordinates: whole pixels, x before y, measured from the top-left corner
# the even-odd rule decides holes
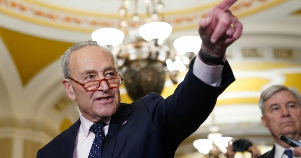
[[[239,0],[231,7],[231,11],[237,17],[243,18],[286,1]],[[119,1],[74,1],[72,4],[66,2],[68,1],[2,0],[0,10],[14,18],[68,31],[89,33],[99,27],[118,27]],[[174,31],[197,27],[200,17],[205,16],[218,2],[189,0],[183,4],[181,1],[166,0],[166,22],[172,24]],[[139,11],[143,12],[142,1],[139,6]]]

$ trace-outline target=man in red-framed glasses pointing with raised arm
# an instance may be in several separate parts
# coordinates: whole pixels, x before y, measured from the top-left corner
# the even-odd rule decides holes
[[[110,50],[95,41],[66,50],[62,82],[79,106],[80,119],[37,157],[174,157],[178,145],[206,120],[216,98],[234,81],[225,51],[242,34],[242,24],[228,10],[235,1],[222,1],[200,21],[200,53],[166,99],[151,93],[131,104],[120,103],[123,79]]]

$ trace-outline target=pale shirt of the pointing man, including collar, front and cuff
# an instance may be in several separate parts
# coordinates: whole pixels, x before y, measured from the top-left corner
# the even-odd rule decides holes
[[[206,65],[197,56],[193,65],[193,74],[206,84],[218,87],[222,81],[223,67],[223,65]],[[94,123],[84,118],[80,112],[79,119],[80,126],[75,140],[73,158],[88,158],[93,140],[95,138],[95,134],[89,130],[91,125]],[[104,126],[104,136],[106,136],[108,133],[110,120],[105,123],[108,125]]]

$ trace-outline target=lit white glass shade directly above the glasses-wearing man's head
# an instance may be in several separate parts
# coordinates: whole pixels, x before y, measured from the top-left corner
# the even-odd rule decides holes
[[[116,28],[100,28],[93,31],[92,40],[101,46],[111,45],[117,47],[124,39],[124,33]]]

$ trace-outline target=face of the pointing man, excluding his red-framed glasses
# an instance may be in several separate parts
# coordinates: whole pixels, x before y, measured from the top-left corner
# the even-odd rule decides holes
[[[119,77],[113,56],[97,46],[87,46],[73,51],[69,71],[70,77],[81,83]],[[119,88],[110,88],[106,81],[102,81],[95,91],[86,91],[71,79],[64,79],[63,85],[69,97],[76,100],[82,115],[92,122],[109,118],[119,107]]]

